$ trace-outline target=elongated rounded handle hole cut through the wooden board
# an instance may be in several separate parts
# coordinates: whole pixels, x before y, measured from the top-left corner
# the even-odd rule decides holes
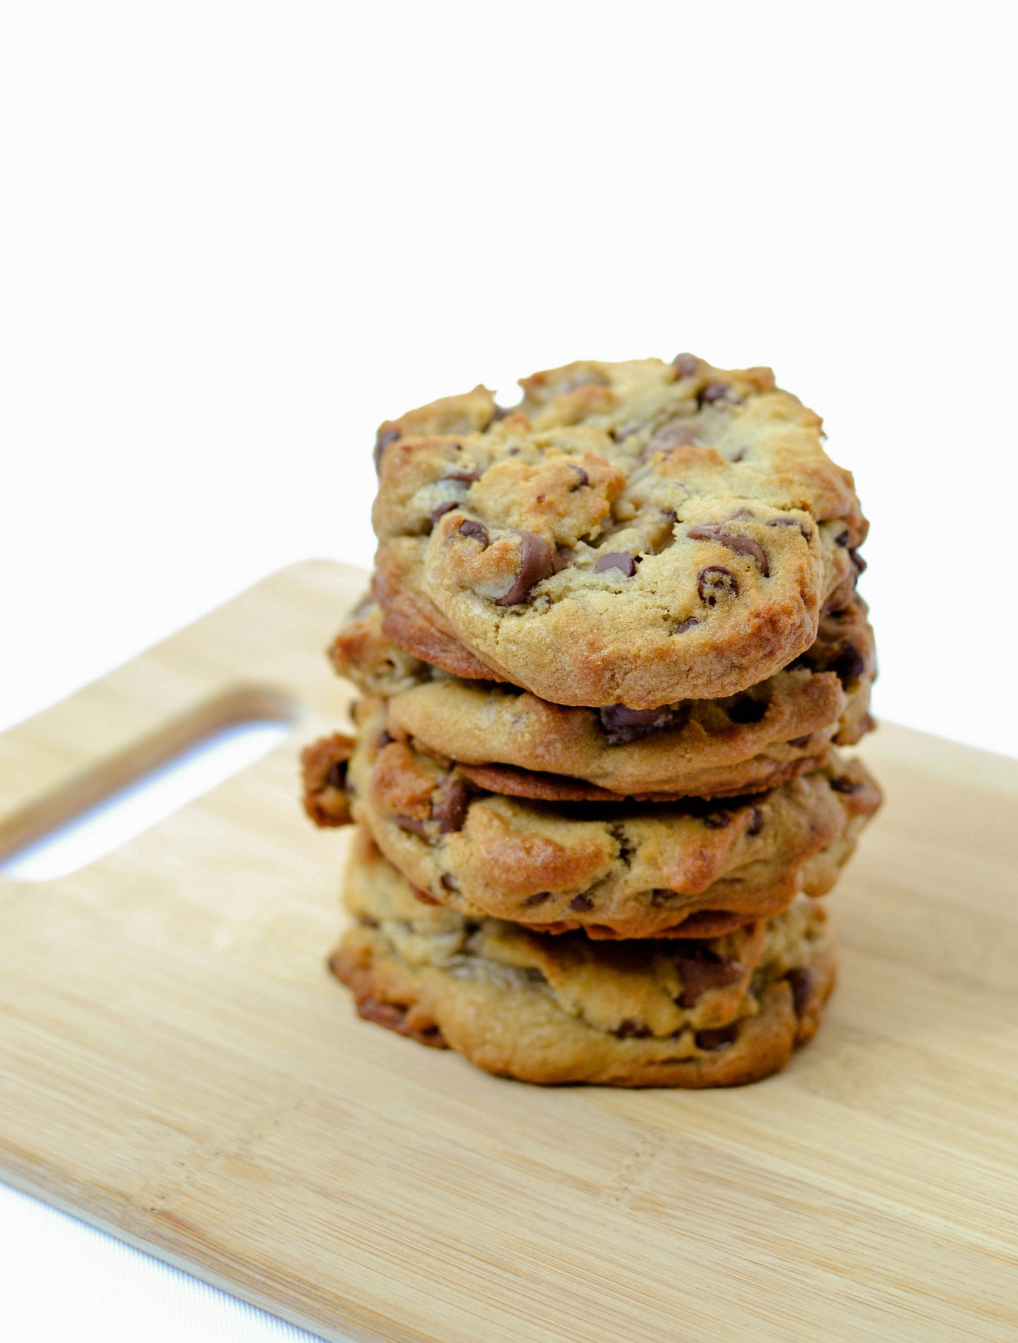
[[[0,876],[55,881],[79,872],[261,760],[294,716],[287,697],[263,690],[205,705],[17,818],[27,838],[0,847]]]

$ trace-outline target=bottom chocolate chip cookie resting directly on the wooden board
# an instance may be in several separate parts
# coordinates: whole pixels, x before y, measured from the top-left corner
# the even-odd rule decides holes
[[[359,838],[332,958],[359,1013],[532,1082],[733,1086],[783,1068],[834,984],[817,901],[697,943],[598,944],[415,900]]]

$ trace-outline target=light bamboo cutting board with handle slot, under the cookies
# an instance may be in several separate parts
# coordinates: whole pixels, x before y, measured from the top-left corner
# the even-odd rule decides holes
[[[0,851],[231,717],[270,756],[93,866],[0,885],[0,1174],[326,1339],[1014,1340],[1018,763],[884,727],[783,1076],[539,1089],[365,1025],[345,838],[297,803],[364,586],[286,569],[0,737]]]

